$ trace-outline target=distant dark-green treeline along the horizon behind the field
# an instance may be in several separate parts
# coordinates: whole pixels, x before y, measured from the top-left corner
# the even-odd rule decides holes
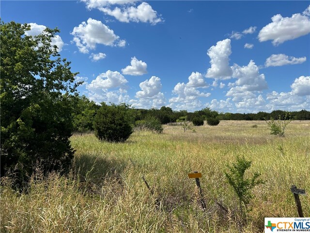
[[[89,100],[85,96],[71,96],[73,105],[73,125],[75,132],[85,133],[93,131],[93,119],[96,112],[100,108],[95,102]],[[149,118],[157,118],[161,124],[168,124],[176,122],[181,117],[187,118],[188,121],[193,121],[195,118],[202,118],[207,120],[209,118],[217,118],[218,120],[269,120],[271,118],[291,119],[291,120],[310,120],[310,111],[301,110],[299,112],[287,112],[282,110],[275,110],[271,113],[218,113],[210,108],[203,108],[195,112],[187,112],[186,110],[173,111],[170,107],[161,107],[160,109],[135,109],[125,103],[121,104],[131,116],[131,123],[145,120]]]

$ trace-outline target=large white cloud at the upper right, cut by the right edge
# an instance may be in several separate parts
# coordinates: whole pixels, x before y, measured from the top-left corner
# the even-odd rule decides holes
[[[271,17],[272,23],[267,24],[258,34],[259,41],[272,40],[278,46],[287,40],[294,40],[310,33],[309,7],[303,14],[282,17],[280,14]]]

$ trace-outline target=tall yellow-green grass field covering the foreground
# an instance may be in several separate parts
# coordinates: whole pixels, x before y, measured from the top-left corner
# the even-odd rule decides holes
[[[120,144],[73,135],[68,176],[38,172],[22,194],[2,178],[1,232],[240,232],[238,199],[224,175],[237,155],[252,161],[248,176],[258,171],[265,182],[253,189],[243,231],[263,232],[267,216],[297,216],[290,186],[310,193],[310,121],[292,121],[285,137],[270,135],[264,121],[221,121],[195,130],[164,126],[162,134],[135,132]],[[202,172],[204,212],[187,177],[194,170]],[[310,216],[310,195],[300,200]]]

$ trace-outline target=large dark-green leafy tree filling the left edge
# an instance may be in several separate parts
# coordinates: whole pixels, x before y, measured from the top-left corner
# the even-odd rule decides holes
[[[77,73],[61,59],[51,40],[58,29],[27,36],[27,24],[0,22],[1,175],[5,167],[23,164],[31,173],[68,168],[74,155],[72,108]]]

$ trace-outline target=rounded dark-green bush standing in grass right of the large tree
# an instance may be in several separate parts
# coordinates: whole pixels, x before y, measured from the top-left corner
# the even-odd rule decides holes
[[[133,132],[130,122],[128,109],[124,105],[102,103],[94,118],[95,135],[99,140],[124,142]]]

